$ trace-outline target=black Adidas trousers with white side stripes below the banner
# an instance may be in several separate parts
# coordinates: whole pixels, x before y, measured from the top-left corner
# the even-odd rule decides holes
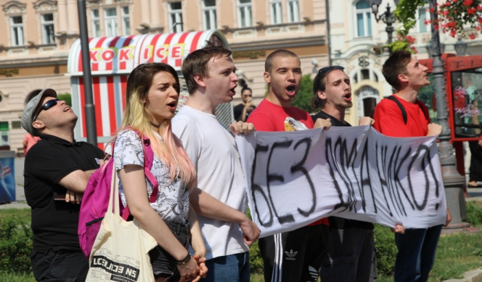
[[[266,282],[317,282],[328,251],[330,229],[324,224],[260,238]]]

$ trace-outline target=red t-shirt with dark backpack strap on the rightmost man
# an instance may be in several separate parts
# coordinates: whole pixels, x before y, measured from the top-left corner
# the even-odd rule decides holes
[[[375,124],[373,128],[377,129],[381,134],[390,137],[419,137],[426,136],[428,133],[427,125],[430,123],[428,117],[428,109],[420,100],[418,103],[412,104],[406,100],[393,95],[401,102],[407,112],[407,124],[404,123],[404,117],[397,103],[388,99],[381,100],[377,107],[373,119]],[[423,114],[425,111],[426,114]]]

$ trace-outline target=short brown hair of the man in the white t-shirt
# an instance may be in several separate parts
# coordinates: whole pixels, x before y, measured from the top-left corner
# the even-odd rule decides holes
[[[209,77],[207,63],[211,58],[222,58],[231,56],[231,50],[224,46],[214,46],[213,43],[206,41],[206,46],[198,49],[186,56],[182,61],[181,71],[186,80],[189,94],[193,94],[198,89],[198,83],[194,76]]]

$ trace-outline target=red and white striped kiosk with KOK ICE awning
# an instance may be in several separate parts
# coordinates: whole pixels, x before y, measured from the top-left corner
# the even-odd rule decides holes
[[[112,139],[112,135],[121,124],[125,108],[125,87],[132,69],[148,62],[167,63],[174,67],[181,84],[178,103],[178,109],[180,109],[189,95],[180,72],[182,58],[205,46],[206,41],[229,48],[224,35],[216,30],[90,38],[90,67],[98,147],[105,149],[105,144]],[[70,76],[72,89],[72,109],[78,116],[74,138],[77,141],[86,141],[80,39],[74,42],[70,50],[67,75]],[[234,120],[232,103],[219,105],[216,116],[224,127],[229,127]]]

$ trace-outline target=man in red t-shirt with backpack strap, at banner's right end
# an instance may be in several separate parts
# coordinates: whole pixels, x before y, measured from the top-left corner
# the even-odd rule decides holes
[[[384,99],[375,107],[373,127],[392,137],[437,136],[442,132],[439,124],[430,123],[427,107],[417,100],[421,87],[430,85],[427,67],[406,50],[395,51],[384,63],[385,79],[397,91],[392,97],[397,102]],[[406,111],[406,120],[401,108]],[[452,217],[447,208],[447,221]],[[405,234],[395,234],[398,254],[395,261],[395,282],[427,281],[432,269],[442,226],[406,228]]]

